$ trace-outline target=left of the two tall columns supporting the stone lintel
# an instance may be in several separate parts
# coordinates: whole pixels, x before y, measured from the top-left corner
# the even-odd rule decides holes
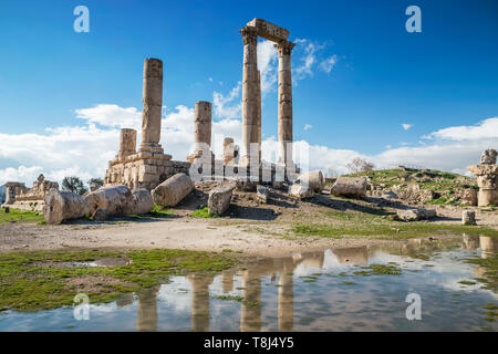
[[[240,33],[243,40],[241,164],[249,165],[256,158],[250,156],[250,144],[258,142],[258,37],[251,27],[245,27]]]

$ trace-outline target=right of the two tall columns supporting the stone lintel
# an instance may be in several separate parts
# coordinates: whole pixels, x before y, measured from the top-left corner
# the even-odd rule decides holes
[[[279,51],[279,163],[292,165],[292,77],[291,52],[294,43],[287,40],[274,45]],[[288,146],[288,144],[291,144]]]

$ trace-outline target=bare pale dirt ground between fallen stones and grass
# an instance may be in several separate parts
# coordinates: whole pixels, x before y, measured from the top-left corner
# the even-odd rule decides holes
[[[376,214],[413,208],[400,201],[381,198],[340,199],[315,195],[309,200],[295,200],[286,192],[272,190],[268,204],[259,204],[255,192],[235,192],[226,216],[214,219],[189,217],[207,204],[209,185],[197,189],[172,209],[164,219],[134,219],[91,222],[76,220],[59,226],[33,223],[0,225],[0,252],[12,250],[59,249],[186,249],[197,251],[231,250],[247,256],[283,256],[329,247],[354,247],[393,241],[372,239],[328,239],[321,237],[288,237],[295,219],[319,221],[326,210]],[[438,218],[430,222],[460,223],[461,208],[435,207]],[[468,208],[467,208],[468,209]],[[477,211],[478,225],[498,230],[498,211]]]

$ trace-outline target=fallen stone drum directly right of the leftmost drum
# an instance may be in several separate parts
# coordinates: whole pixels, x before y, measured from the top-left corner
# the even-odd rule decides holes
[[[91,191],[85,200],[92,217],[97,209],[106,210],[108,216],[126,216],[133,205],[133,194],[126,186],[112,186]]]

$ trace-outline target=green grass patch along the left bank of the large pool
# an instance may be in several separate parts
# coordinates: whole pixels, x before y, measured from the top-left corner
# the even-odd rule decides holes
[[[108,268],[65,263],[122,257],[132,262]],[[235,264],[236,261],[227,256],[164,249],[4,253],[0,254],[0,311],[38,311],[71,305],[79,292],[86,293],[92,303],[110,302],[124,293],[165,283],[173,274],[219,272]],[[90,290],[81,291],[74,285],[74,280],[89,278],[98,280]]]

